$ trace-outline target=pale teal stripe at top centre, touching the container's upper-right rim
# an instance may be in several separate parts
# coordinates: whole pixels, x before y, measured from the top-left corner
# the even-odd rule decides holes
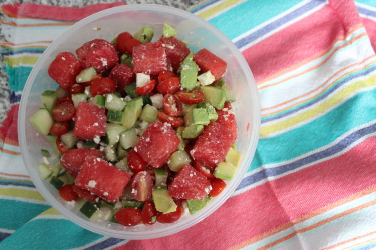
[[[246,1],[214,17],[213,19],[209,20],[209,22],[218,27],[230,39],[234,39],[239,35],[246,33],[250,29],[285,12],[300,2],[302,2],[302,0]],[[273,7],[271,8],[270,6]],[[231,20],[231,22],[229,22],[229,20]]]

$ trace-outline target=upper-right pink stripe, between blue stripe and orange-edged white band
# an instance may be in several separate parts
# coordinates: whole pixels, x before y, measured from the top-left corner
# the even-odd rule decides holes
[[[360,22],[352,1],[331,0],[320,10],[246,49],[243,55],[258,82],[319,54]]]

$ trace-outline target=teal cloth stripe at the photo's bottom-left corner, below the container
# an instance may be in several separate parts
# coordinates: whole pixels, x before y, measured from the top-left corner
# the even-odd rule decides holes
[[[72,249],[102,235],[87,231],[65,219],[35,219],[0,243],[2,249]]]

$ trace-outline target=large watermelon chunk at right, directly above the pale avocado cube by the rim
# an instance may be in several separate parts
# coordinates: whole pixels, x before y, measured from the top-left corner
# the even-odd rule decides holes
[[[233,144],[230,130],[218,122],[209,124],[197,138],[191,150],[192,157],[205,167],[216,167],[225,160]]]

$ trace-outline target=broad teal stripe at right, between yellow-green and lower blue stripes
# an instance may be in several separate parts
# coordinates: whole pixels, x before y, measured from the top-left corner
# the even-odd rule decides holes
[[[290,160],[332,143],[347,131],[375,120],[374,106],[376,89],[364,91],[312,122],[274,137],[260,139],[248,171],[261,165]]]

